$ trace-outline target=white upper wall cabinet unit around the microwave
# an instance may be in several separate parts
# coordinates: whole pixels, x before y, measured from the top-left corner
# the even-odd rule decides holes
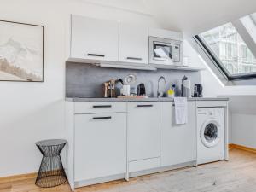
[[[68,27],[71,28],[69,29],[70,35],[68,33],[67,36],[67,61],[93,63],[100,67],[139,70],[156,70],[157,68],[200,70],[200,68],[193,67],[177,67],[172,65],[172,62],[166,63],[166,59],[163,61],[159,59],[158,65],[154,65],[156,62],[148,62],[149,55],[153,56],[153,51],[149,51],[149,37],[182,41],[182,32],[100,20],[80,15],[72,15]]]

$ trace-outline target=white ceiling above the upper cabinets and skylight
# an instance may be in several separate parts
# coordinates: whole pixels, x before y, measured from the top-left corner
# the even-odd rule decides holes
[[[166,29],[189,35],[256,12],[255,0],[83,0],[154,16]]]

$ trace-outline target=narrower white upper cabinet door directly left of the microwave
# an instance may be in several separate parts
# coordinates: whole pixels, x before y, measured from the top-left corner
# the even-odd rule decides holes
[[[119,24],[119,61],[148,64],[148,27]]]

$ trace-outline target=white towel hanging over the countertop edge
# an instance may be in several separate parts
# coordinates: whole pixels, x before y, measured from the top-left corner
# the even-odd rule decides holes
[[[186,97],[175,97],[175,122],[177,125],[188,123],[188,100]]]

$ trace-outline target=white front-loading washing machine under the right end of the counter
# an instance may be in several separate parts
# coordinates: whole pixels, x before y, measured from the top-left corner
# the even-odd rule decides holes
[[[197,108],[197,164],[224,160],[224,108]]]

